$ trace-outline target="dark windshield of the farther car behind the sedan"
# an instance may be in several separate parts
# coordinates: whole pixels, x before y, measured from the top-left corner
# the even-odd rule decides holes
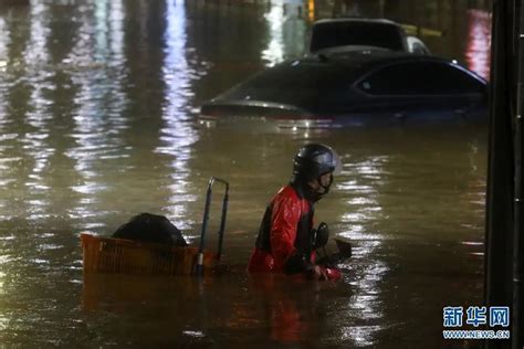
[[[400,29],[389,23],[331,22],[313,27],[311,52],[345,45],[368,45],[404,51]]]

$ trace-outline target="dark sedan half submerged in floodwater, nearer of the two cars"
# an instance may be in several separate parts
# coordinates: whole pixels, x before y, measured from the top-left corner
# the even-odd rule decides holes
[[[486,105],[486,82],[454,61],[363,49],[268,68],[205,103],[200,119],[279,127],[485,123]]]

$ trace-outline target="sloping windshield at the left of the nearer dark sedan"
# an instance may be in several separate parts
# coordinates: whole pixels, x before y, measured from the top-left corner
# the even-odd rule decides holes
[[[349,73],[332,64],[295,61],[259,73],[220,96],[221,99],[264,101],[315,108],[333,91],[345,91]]]

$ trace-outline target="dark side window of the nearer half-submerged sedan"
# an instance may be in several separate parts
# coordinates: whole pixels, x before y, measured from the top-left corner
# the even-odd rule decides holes
[[[407,62],[386,66],[358,83],[371,95],[446,95],[481,93],[483,84],[453,65]]]

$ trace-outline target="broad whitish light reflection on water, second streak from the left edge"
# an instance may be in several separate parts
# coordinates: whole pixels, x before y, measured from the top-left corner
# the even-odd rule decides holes
[[[70,189],[78,202],[70,208],[70,219],[96,218],[99,197],[109,190],[99,171],[102,163],[127,158],[129,146],[119,137],[128,126],[124,117],[127,97],[124,92],[125,75],[115,74],[112,67],[125,65],[123,52],[123,6],[120,1],[97,1],[94,9],[94,33],[82,12],[83,21],[74,40],[75,45],[66,57],[74,68],[71,82],[75,94],[72,96],[74,121],[71,137],[74,146],[65,151],[73,160],[76,180]],[[96,61],[87,61],[90,57]],[[98,63],[94,64],[94,63]],[[102,222],[87,223],[84,229],[103,228]]]

